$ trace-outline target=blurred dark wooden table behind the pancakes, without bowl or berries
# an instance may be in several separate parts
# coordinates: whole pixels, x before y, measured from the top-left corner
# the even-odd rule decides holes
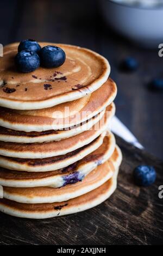
[[[163,58],[158,56],[158,49],[141,49],[114,34],[102,20],[96,0],[4,0],[0,3],[0,43],[27,38],[63,42],[91,48],[108,58],[111,77],[118,86],[117,116],[147,151],[163,159],[163,93],[147,89],[151,78],[163,76]],[[140,63],[134,74],[117,70],[118,63],[126,56],[134,56]]]

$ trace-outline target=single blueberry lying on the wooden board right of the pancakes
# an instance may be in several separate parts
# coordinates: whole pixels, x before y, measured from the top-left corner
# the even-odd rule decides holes
[[[134,180],[139,186],[149,186],[156,179],[156,172],[152,166],[137,166],[134,169]]]

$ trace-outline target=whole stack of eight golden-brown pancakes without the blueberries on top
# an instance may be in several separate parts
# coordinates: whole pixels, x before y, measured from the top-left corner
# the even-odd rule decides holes
[[[108,129],[117,90],[108,61],[58,45],[62,66],[22,74],[17,46],[5,46],[0,59],[0,210],[48,218],[102,203],[115,191],[122,160]]]

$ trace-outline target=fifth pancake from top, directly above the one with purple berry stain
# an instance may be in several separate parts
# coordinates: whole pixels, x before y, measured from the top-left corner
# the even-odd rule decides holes
[[[0,156],[0,166],[10,170],[21,170],[26,172],[48,172],[69,166],[70,164],[83,159],[94,150],[99,148],[104,140],[105,132],[93,142],[82,148],[67,153],[66,155],[48,157],[46,159],[20,159]],[[110,156],[115,149],[115,137],[109,134]]]

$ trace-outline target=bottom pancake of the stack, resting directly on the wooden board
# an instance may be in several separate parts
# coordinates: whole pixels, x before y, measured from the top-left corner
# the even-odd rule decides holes
[[[8,199],[0,199],[0,211],[22,218],[51,218],[85,211],[101,204],[108,199],[117,187],[118,168],[111,179],[102,186],[80,197],[62,203],[23,204]]]

